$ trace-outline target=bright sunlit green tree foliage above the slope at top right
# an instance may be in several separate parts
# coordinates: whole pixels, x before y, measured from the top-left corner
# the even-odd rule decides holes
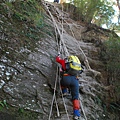
[[[87,23],[94,21],[97,25],[111,23],[111,17],[114,15],[111,2],[107,0],[71,0],[71,3],[78,7],[80,19]],[[108,24],[109,24],[108,23]]]

